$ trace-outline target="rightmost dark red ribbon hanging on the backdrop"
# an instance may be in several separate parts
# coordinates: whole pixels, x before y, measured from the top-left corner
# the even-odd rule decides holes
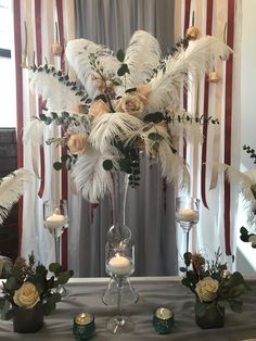
[[[233,49],[234,0],[228,2],[227,43]],[[231,164],[231,125],[232,125],[232,70],[233,56],[230,55],[226,67],[226,109],[225,109],[225,163]],[[231,255],[230,247],[230,184],[225,178],[225,247],[226,254]]]

